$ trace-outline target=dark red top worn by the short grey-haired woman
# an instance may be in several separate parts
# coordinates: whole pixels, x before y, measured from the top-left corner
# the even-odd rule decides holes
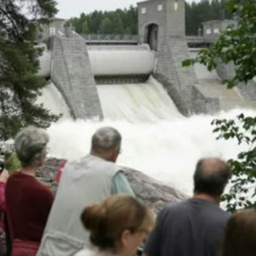
[[[12,240],[40,242],[52,204],[53,193],[35,177],[12,174],[5,188]]]

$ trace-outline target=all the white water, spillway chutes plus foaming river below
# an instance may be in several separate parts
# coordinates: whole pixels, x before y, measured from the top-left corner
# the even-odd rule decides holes
[[[96,129],[113,126],[123,137],[123,152],[117,164],[143,171],[169,186],[191,194],[193,172],[199,158],[217,156],[227,160],[235,158],[246,147],[238,147],[235,141],[216,141],[210,123],[214,118],[233,118],[241,112],[256,115],[256,111],[235,109],[215,116],[182,117],[171,100],[166,98],[168,96],[162,87],[157,89],[155,85],[149,84],[146,90],[143,88],[146,85],[130,85],[130,89],[126,89],[128,94],[132,91],[131,97],[124,93],[126,89],[118,88],[121,86],[117,85],[115,91],[115,85],[107,85],[104,89],[109,87],[110,91],[104,93],[109,95],[102,97],[100,92],[101,100],[109,100],[109,105],[107,100],[102,102],[104,114],[109,115],[104,122],[73,121],[59,91],[53,84],[46,87],[41,102],[54,113],[64,114],[64,118],[48,128],[51,137],[50,156],[68,160],[81,158],[89,152],[91,136]],[[151,97],[154,100],[150,100]],[[112,112],[113,106],[117,112]],[[108,107],[110,109],[106,110]]]

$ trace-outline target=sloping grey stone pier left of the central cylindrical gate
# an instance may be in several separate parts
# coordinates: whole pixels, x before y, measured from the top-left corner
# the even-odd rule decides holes
[[[51,79],[75,118],[102,119],[102,109],[91,72],[85,40],[79,36],[53,37]]]

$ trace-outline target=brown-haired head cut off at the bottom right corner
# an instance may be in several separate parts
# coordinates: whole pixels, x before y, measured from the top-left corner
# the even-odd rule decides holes
[[[256,255],[256,210],[233,214],[227,223],[221,256]]]

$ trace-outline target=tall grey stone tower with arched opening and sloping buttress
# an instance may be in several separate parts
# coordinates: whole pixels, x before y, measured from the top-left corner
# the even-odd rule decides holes
[[[182,67],[182,61],[190,57],[185,36],[185,1],[143,1],[138,3],[138,12],[139,42],[156,51],[155,77],[167,87],[178,109],[185,115],[216,110],[212,100],[195,87],[194,68]]]

